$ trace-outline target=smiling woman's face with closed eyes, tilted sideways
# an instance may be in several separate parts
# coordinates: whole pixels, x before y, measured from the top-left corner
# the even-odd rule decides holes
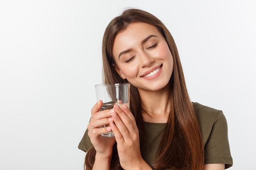
[[[173,56],[161,33],[153,25],[137,22],[117,34],[113,55],[116,71],[138,90],[164,88],[173,72]]]

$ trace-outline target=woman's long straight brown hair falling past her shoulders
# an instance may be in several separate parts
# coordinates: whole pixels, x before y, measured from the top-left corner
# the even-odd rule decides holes
[[[171,111],[162,136],[155,161],[150,166],[155,170],[171,168],[175,170],[202,170],[204,164],[204,146],[198,120],[189,99],[177,47],[166,26],[154,15],[139,9],[127,9],[114,18],[106,28],[103,36],[103,80],[104,83],[128,83],[115,71],[112,54],[116,35],[126,29],[128,24],[144,22],[151,24],[165,38],[173,56],[173,73],[170,79]],[[141,99],[135,86],[130,88],[130,110],[134,114],[139,128],[140,144],[145,144],[143,133]],[[145,146],[145,145],[144,145]],[[144,146],[141,146],[144,147]],[[92,147],[85,156],[86,169],[91,170],[95,149]],[[116,144],[113,147],[111,170],[122,170]]]

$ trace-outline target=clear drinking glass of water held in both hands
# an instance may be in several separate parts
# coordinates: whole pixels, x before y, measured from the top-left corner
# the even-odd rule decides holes
[[[97,84],[95,85],[95,92],[97,101],[102,100],[103,105],[100,109],[107,110],[112,109],[115,104],[118,104],[121,108],[124,104],[130,108],[130,84],[120,83],[120,84]],[[109,124],[103,125],[101,127],[108,127]],[[104,137],[114,137],[112,131],[103,133],[101,136]]]

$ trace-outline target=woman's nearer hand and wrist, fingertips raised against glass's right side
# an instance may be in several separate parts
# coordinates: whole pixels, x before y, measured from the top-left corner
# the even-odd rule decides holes
[[[139,146],[139,130],[136,121],[128,106],[122,109],[116,104],[112,111],[113,121],[110,127],[115,134],[117,141],[117,151],[121,167],[124,169],[136,169],[141,162],[145,162],[141,157]]]

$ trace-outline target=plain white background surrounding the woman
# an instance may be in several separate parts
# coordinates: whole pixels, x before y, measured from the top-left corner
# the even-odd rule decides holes
[[[227,118],[230,170],[254,170],[254,0],[2,0],[0,169],[83,169],[77,146],[101,83],[103,32],[126,7],[166,24],[191,100]]]

